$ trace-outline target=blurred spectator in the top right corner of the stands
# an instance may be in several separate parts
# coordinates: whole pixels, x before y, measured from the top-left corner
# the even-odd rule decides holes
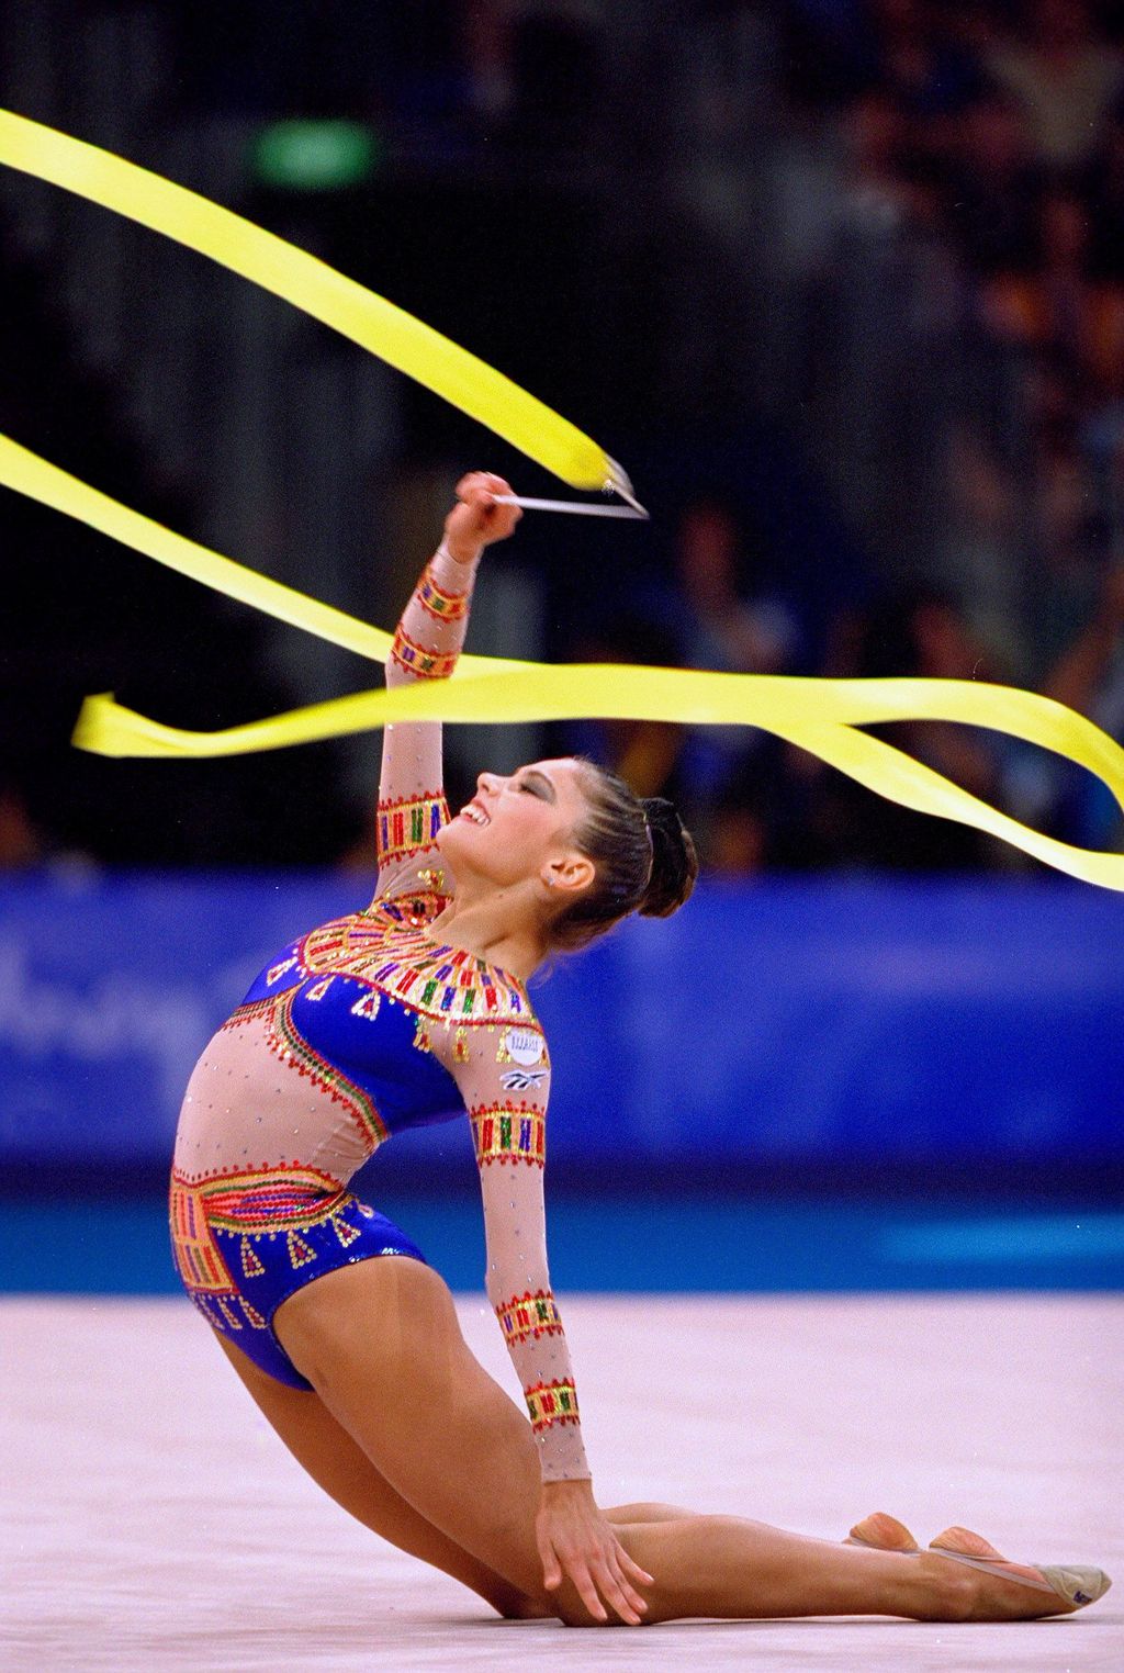
[[[1055,172],[1089,162],[1124,69],[1084,0],[1037,0],[1030,38],[995,45],[987,67],[1025,110],[1039,162]]]

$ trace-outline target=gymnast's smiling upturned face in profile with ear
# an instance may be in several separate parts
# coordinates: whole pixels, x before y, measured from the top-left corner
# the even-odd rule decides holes
[[[437,836],[453,873],[487,878],[498,888],[534,883],[559,905],[585,888],[594,863],[574,845],[585,816],[580,763],[572,756],[534,761],[517,773],[480,773],[477,793]]]

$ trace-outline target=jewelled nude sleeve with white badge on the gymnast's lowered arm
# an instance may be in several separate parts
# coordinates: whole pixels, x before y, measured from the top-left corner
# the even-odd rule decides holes
[[[483,1195],[485,1287],[539,1444],[544,1481],[589,1477],[574,1370],[547,1265],[544,1164],[550,1067],[534,1019],[472,1031],[453,1066]]]

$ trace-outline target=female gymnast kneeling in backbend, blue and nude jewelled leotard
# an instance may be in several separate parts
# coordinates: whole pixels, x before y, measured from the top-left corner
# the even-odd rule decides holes
[[[520,512],[458,485],[393,641],[391,684],[443,679],[485,545]],[[582,760],[482,773],[450,821],[442,729],[388,726],[370,907],[284,947],[199,1059],[171,1179],[179,1273],[316,1482],[502,1616],[1025,1619],[1107,1588],[1005,1563],[965,1529],[920,1551],[875,1514],[835,1544],[662,1504],[600,1509],[550,1293],[550,1059],[527,980],[631,912],[667,915],[696,858],[674,808]],[[468,1114],[487,1290],[530,1420],[470,1355],[448,1288],[348,1181],[391,1133]],[[378,1256],[378,1258],[375,1258]]]

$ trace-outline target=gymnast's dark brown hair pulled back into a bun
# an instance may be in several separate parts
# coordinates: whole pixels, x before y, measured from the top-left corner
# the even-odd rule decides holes
[[[667,918],[694,888],[699,860],[691,831],[671,801],[642,800],[616,773],[579,756],[587,800],[574,845],[595,877],[549,925],[557,952],[587,947],[629,912]]]

